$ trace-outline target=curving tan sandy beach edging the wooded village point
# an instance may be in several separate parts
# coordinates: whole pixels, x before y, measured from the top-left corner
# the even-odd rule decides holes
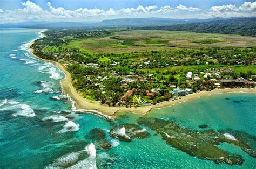
[[[39,32],[43,36],[43,32]],[[41,37],[42,38],[42,37]],[[65,74],[65,77],[60,80],[60,83],[63,87],[63,92],[64,94],[70,95],[72,98],[73,102],[75,103],[75,107],[79,110],[82,111],[88,111],[88,112],[93,112],[96,113],[97,115],[103,116],[105,118],[109,118],[109,116],[115,115],[117,112],[132,112],[134,114],[139,114],[139,115],[147,115],[152,109],[161,109],[161,108],[166,108],[166,107],[171,107],[172,105],[194,100],[196,98],[200,98],[203,96],[210,96],[210,95],[215,95],[215,94],[222,94],[222,93],[256,93],[255,88],[224,88],[224,89],[214,89],[211,91],[200,91],[199,93],[193,93],[189,94],[186,96],[181,97],[179,100],[174,100],[174,101],[164,101],[157,103],[156,105],[145,105],[142,107],[109,107],[107,105],[101,105],[99,102],[96,101],[90,101],[84,98],[79,91],[75,89],[75,87],[72,86],[72,78],[71,74],[66,71],[66,68],[64,65],[60,64],[59,62],[56,61],[51,61],[51,60],[46,60],[39,58],[37,55],[33,54],[33,49],[31,48],[31,45],[34,43],[35,39],[31,41],[30,43],[30,53],[32,54],[32,57],[35,57],[36,59],[43,60],[45,62],[51,62],[53,65],[58,67],[60,71],[62,71]]]

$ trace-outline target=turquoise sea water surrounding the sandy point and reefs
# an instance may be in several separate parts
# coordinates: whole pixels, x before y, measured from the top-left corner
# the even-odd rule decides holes
[[[28,43],[38,29],[0,30],[0,168],[44,168],[76,159],[76,153],[93,143],[91,129],[106,131],[112,149],[97,147],[96,158],[84,157],[84,166],[98,168],[255,168],[256,160],[232,144],[228,152],[241,154],[242,166],[217,165],[188,156],[167,145],[154,131],[145,139],[119,142],[109,137],[113,125],[136,123],[139,115],[123,114],[113,121],[92,114],[76,114],[72,102],[61,93],[64,74],[47,62],[31,58]],[[200,130],[235,129],[256,136],[256,95],[221,94],[153,110],[148,116],[166,118],[181,126]],[[51,119],[50,119],[51,118]],[[90,149],[91,150],[91,149]],[[87,153],[92,153],[87,152]],[[61,158],[62,157],[62,158]],[[63,160],[64,159],[64,160]]]

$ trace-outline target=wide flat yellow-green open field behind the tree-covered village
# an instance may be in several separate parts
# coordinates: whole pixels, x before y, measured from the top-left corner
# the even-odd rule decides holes
[[[255,47],[256,38],[239,35],[183,31],[133,30],[111,36],[71,41],[68,47],[86,52],[132,52],[169,50],[173,47]]]

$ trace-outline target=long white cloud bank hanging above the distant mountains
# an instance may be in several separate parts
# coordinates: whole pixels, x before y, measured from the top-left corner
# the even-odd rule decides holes
[[[142,6],[137,8],[122,8],[114,10],[78,8],[68,10],[63,7],[53,7],[51,2],[47,3],[48,9],[31,1],[22,3],[22,9],[2,10],[0,9],[0,23],[23,22],[28,20],[38,21],[86,21],[100,20],[104,18],[127,18],[127,17],[166,17],[166,18],[213,18],[213,17],[252,17],[256,16],[256,2],[245,2],[241,6],[232,4],[212,6],[210,9],[202,10],[193,6]]]

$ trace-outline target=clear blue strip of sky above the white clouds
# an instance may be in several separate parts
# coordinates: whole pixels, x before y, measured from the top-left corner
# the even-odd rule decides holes
[[[47,2],[51,2],[52,6],[59,7],[62,6],[65,9],[75,10],[77,8],[100,8],[100,9],[122,9],[122,8],[135,8],[138,5],[150,6],[165,6],[172,5],[178,6],[179,4],[185,6],[194,6],[202,9],[208,9],[211,6],[220,6],[234,4],[236,6],[242,5],[246,1],[242,0],[31,0],[37,5],[41,6],[43,9],[48,9],[46,5]],[[1,0],[0,8],[3,10],[13,10],[22,8],[22,2],[26,0]],[[255,1],[251,1],[255,2]]]

